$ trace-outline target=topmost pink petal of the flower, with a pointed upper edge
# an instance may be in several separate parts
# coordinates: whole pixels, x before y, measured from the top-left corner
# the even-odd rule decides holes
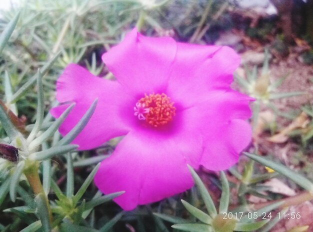
[[[144,93],[163,92],[175,53],[172,38],[146,37],[133,29],[102,60],[118,82],[140,98]]]

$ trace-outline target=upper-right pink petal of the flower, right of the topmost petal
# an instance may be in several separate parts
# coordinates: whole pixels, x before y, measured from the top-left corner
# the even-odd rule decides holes
[[[239,55],[227,46],[177,43],[167,93],[184,107],[203,101],[209,90],[228,89]]]

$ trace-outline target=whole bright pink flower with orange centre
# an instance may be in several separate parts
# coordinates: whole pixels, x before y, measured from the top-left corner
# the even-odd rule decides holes
[[[136,29],[102,55],[116,80],[96,77],[69,64],[56,84],[63,103],[58,117],[76,105],[59,128],[66,134],[91,102],[96,109],[72,141],[80,150],[124,135],[94,177],[123,209],[158,201],[193,185],[187,165],[222,170],[238,160],[251,139],[245,121],[252,99],[230,88],[239,56],[227,46],[146,37]]]

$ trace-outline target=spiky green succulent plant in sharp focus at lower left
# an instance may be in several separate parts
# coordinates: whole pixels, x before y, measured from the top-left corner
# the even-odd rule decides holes
[[[7,28],[0,36],[0,48],[2,50],[13,31],[13,28],[18,20],[17,16],[7,25]],[[48,62],[42,69],[46,71],[49,66],[55,61]],[[81,116],[69,133],[60,140],[55,140],[48,147],[46,141],[58,133],[59,125],[72,110],[74,104],[64,110],[60,117],[51,122],[50,125],[43,129],[44,121],[44,97],[42,86],[42,73],[38,69],[37,74],[30,78],[23,86],[14,94],[10,86],[9,76],[5,75],[5,97],[6,103],[0,104],[0,122],[6,132],[7,137],[0,142],[0,168],[1,168],[1,186],[0,186],[0,204],[3,202],[6,195],[9,193],[11,201],[15,201],[18,195],[22,197],[27,205],[6,208],[5,212],[13,212],[18,215],[25,223],[28,224],[21,231],[36,231],[41,228],[42,231],[51,231],[52,229],[66,228],[67,230],[75,231],[81,229],[89,229],[86,226],[79,226],[79,223],[89,215],[94,206],[106,202],[113,197],[120,195],[123,192],[116,192],[102,196],[99,192],[91,200],[85,202],[81,200],[88,185],[92,182],[94,174],[98,169],[95,166],[93,171],[84,180],[78,191],[74,194],[74,178],[73,178],[73,163],[71,151],[76,149],[78,145],[69,144],[76,135],[83,129],[85,124],[90,119],[97,99],[94,99],[86,112]],[[18,127],[19,121],[17,116],[10,110],[12,104],[18,97],[31,85],[33,80],[37,82],[37,112],[36,120],[29,134],[24,127]],[[6,106],[8,105],[8,106]],[[13,105],[14,106],[14,105]],[[17,127],[16,127],[17,126]],[[55,155],[65,155],[67,159],[67,181],[66,195],[64,195],[55,182],[51,179],[51,162],[50,158]],[[39,176],[39,166],[42,166],[42,182]],[[20,186],[21,179],[27,179],[30,188],[33,191],[34,199],[29,197],[28,193]],[[50,186],[55,192],[58,200],[49,201],[48,193]],[[33,220],[27,213],[33,213],[37,220]],[[121,214],[118,214],[119,218]],[[102,231],[110,229],[114,223],[104,225]],[[4,229],[15,230],[17,228],[8,227]]]

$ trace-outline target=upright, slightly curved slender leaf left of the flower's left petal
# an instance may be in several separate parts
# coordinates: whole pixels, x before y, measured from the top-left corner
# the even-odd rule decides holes
[[[41,82],[41,72],[40,69],[38,68],[37,71],[37,113],[36,113],[36,121],[35,124],[30,131],[28,137],[27,137],[27,142],[29,143],[32,141],[32,139],[36,136],[38,131],[40,130],[42,121],[43,121],[43,114],[44,114],[44,97],[43,97],[43,86]]]

